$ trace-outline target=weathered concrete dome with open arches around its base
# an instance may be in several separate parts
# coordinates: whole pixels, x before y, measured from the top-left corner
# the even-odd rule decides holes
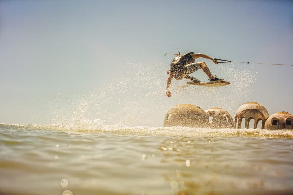
[[[238,110],[236,111],[236,115],[234,116],[235,128],[238,128],[238,129],[241,128],[241,122],[243,118],[245,118],[244,128],[249,128],[248,127],[249,121],[251,119],[254,119],[253,128],[256,129],[258,122],[263,121],[262,127],[261,127],[263,129],[265,127],[265,121],[269,118],[269,113],[267,109],[265,109],[265,107],[263,107],[259,103],[248,102],[240,106]],[[237,122],[237,119],[238,119],[238,122]]]

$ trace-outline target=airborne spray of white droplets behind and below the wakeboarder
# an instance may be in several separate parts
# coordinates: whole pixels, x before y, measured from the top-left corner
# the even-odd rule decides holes
[[[114,76],[93,92],[71,97],[71,109],[54,109],[54,124],[70,129],[98,129],[103,125],[161,126],[165,113],[173,106],[190,103],[204,110],[222,107],[233,115],[252,94],[255,76],[235,65],[217,65],[213,71],[224,75],[231,85],[225,87],[198,87],[185,84],[188,80],[172,80],[172,97],[166,97],[168,75],[161,64],[127,63],[124,74]],[[208,79],[198,70],[201,80]],[[65,103],[66,104],[66,103]],[[74,105],[74,106],[72,106]],[[63,106],[63,107],[62,107]]]

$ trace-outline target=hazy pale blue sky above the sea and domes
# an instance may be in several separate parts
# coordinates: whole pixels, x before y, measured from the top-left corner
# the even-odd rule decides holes
[[[246,102],[293,113],[292,66],[214,64],[226,87],[172,80],[193,51],[230,61],[293,64],[293,1],[0,1],[0,123],[162,126],[181,103],[232,116]],[[163,57],[163,54],[167,53]],[[191,74],[202,81],[198,70]]]

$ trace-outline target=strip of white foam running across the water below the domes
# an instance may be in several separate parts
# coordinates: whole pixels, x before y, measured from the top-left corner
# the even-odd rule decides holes
[[[173,137],[262,137],[262,138],[293,138],[293,130],[266,129],[211,129],[191,127],[149,127],[127,126],[122,123],[106,125],[100,120],[89,121],[87,125],[73,123],[59,125],[25,125],[0,124],[0,129],[13,130],[45,130],[77,134],[114,134],[132,136],[173,136]]]

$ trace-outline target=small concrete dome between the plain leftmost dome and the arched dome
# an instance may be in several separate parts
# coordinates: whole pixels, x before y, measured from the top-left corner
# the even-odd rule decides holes
[[[205,111],[212,120],[210,127],[212,128],[233,128],[234,121],[232,116],[223,108],[209,108]]]

